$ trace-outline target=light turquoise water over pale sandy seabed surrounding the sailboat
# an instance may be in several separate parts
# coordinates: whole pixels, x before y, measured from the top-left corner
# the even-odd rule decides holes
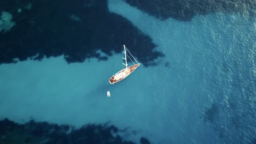
[[[152,39],[165,55],[154,59],[158,65],[142,65],[110,86],[120,53],[103,62],[67,64],[61,56],[2,64],[0,94],[7,97],[0,118],[77,127],[110,121],[136,131],[126,139],[146,136],[153,143],[255,143],[255,17],[211,13],[185,22],[159,20],[114,0],[108,10]]]

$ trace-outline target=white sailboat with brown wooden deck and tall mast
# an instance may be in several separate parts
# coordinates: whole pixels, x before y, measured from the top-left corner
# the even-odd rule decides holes
[[[134,63],[133,61],[132,61],[132,59],[126,54],[126,50],[130,53],[130,55],[132,56],[132,54],[131,54],[131,52],[125,47],[125,45],[124,45],[124,53],[125,53],[125,57],[123,57],[123,59],[125,60],[125,67],[126,68],[124,68],[124,69],[122,69],[122,70],[120,70],[120,71],[118,71],[117,73],[115,73],[113,76],[111,76],[110,77],[110,79],[108,80],[109,81],[109,83],[111,84],[111,85],[114,85],[114,83],[117,83],[117,82],[119,82],[119,81],[121,81],[121,80],[124,80],[125,79],[125,77],[127,77],[127,76],[129,76],[135,69],[137,69],[138,67],[139,67],[139,65],[141,65],[140,63],[138,63],[137,61],[136,61],[136,59],[132,56],[132,58],[135,60],[135,62],[137,63]],[[127,67],[128,66],[128,64],[127,64],[127,57],[128,58],[130,58],[130,60],[132,61],[132,63],[133,63],[133,65],[131,65],[130,67]]]

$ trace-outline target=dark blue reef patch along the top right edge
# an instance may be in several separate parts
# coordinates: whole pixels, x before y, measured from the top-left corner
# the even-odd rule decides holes
[[[159,19],[169,17],[179,21],[190,21],[196,15],[210,13],[246,13],[249,17],[256,17],[256,2],[246,0],[125,0],[130,5],[137,7]]]

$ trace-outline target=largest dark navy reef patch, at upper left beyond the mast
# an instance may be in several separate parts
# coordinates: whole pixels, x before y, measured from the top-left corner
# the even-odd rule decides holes
[[[18,9],[21,11],[18,12]],[[155,44],[124,17],[109,13],[107,1],[14,1],[2,0],[0,15],[7,11],[16,25],[0,32],[0,64],[64,55],[68,63],[108,56],[127,48],[144,65],[164,56]]]

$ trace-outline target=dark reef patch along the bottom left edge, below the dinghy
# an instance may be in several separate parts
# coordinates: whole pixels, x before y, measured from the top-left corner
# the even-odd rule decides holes
[[[11,127],[11,129],[10,129]],[[49,124],[31,120],[18,124],[4,119],[0,121],[0,143],[117,143],[132,144],[118,134],[118,128],[108,124],[88,124],[80,129],[68,125]],[[150,143],[141,137],[142,144]]]

